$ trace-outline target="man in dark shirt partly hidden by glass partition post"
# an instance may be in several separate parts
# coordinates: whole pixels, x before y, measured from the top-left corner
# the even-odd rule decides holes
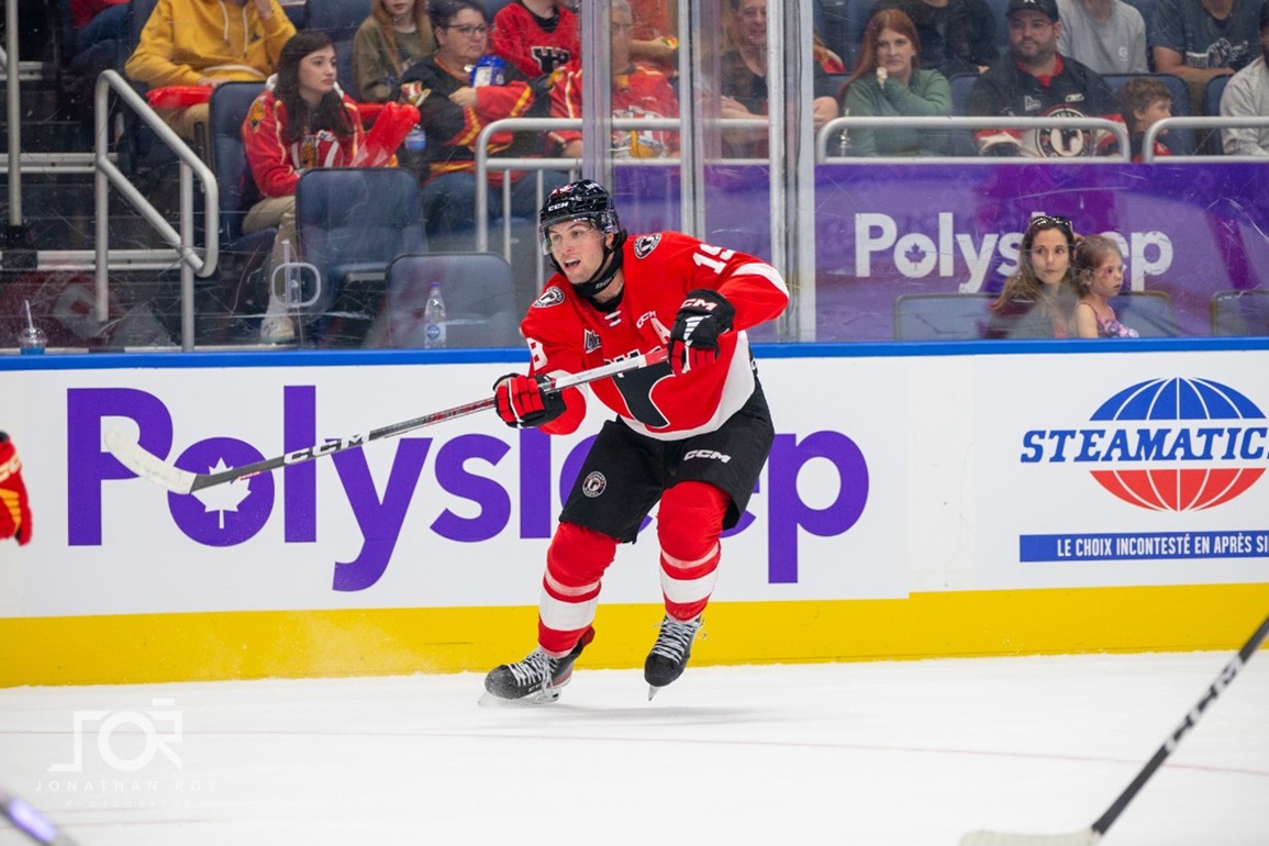
[[[720,115],[723,118],[765,117],[766,90],[766,0],[730,0],[736,25],[736,44],[721,58]],[[815,72],[815,101],[811,115],[815,128],[838,117],[838,98],[827,74],[819,63]],[[730,133],[733,152],[766,155],[766,131]]]

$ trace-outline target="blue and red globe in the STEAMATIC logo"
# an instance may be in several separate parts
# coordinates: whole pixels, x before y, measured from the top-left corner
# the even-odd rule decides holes
[[[1170,467],[1091,471],[1129,505],[1152,511],[1199,511],[1228,502],[1255,485],[1264,463],[1265,415],[1233,388],[1208,379],[1151,379],[1107,400],[1090,420],[1162,427]],[[1235,422],[1241,421],[1241,422]],[[1171,425],[1169,425],[1171,424]],[[1249,425],[1250,424],[1250,425]],[[1184,443],[1181,441],[1184,439]],[[1255,440],[1254,440],[1255,439]],[[1161,438],[1160,444],[1165,440]],[[1195,454],[1202,460],[1194,460]],[[1197,467],[1178,467],[1181,460]]]

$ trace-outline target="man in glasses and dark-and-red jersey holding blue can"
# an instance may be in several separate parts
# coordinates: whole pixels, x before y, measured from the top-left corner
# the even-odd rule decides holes
[[[415,62],[401,77],[393,99],[419,108],[419,126],[428,134],[429,179],[423,186],[423,216],[428,236],[468,235],[476,226],[476,138],[486,124],[503,118],[543,118],[549,114],[549,77],[527,79],[514,65],[505,68],[501,85],[473,88],[466,70],[485,56],[489,27],[485,8],[475,0],[431,0],[429,9],[437,52]],[[543,136],[496,133],[489,145],[491,157],[541,156]],[[501,190],[503,170],[490,170],[490,188]],[[567,176],[543,172],[543,190],[563,185]],[[525,171],[509,174],[511,212],[532,218],[537,214],[536,180]],[[491,212],[500,202],[489,204]]]

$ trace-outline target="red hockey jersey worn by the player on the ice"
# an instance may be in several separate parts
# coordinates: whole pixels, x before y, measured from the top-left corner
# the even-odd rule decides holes
[[[754,392],[745,330],[778,317],[788,288],[772,265],[680,232],[631,236],[622,247],[621,304],[600,312],[553,275],[520,322],[530,374],[579,373],[667,345],[688,292],[717,290],[736,308],[732,331],[718,337],[718,360],[675,377],[667,363],[591,383],[589,389],[634,430],[661,440],[713,431]],[[581,389],[563,392],[567,411],[542,426],[575,431],[586,413]]]

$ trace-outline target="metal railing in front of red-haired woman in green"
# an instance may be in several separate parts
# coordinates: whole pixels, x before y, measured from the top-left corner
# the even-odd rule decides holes
[[[931,118],[907,118],[907,117],[841,117],[829,120],[820,128],[820,132],[815,137],[815,162],[824,164],[830,159],[851,159],[851,156],[829,156],[829,142],[838,137],[838,134],[845,129],[850,131],[853,128],[909,128],[909,129],[1044,129],[1044,128],[1066,128],[1066,129],[1103,129],[1112,133],[1115,137],[1119,147],[1117,155],[1114,156],[1072,156],[1068,159],[1052,157],[1044,159],[1046,162],[1071,162],[1071,164],[1088,164],[1090,161],[1104,161],[1104,162],[1122,162],[1129,161],[1132,159],[1132,148],[1128,142],[1128,127],[1118,120],[1108,120],[1107,118],[986,118],[986,117],[931,117]],[[854,159],[860,159],[854,156]],[[876,162],[881,160],[881,156],[869,156],[867,161]],[[917,156],[917,157],[887,157],[892,161],[904,161],[910,164],[966,164],[966,162],[978,162],[978,164],[1003,164],[1008,162],[1008,157],[999,156]]]

